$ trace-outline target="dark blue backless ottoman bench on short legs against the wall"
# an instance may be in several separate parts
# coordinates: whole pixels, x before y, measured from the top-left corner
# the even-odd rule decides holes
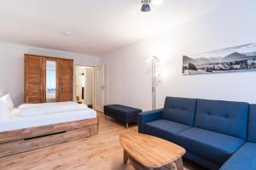
[[[111,116],[119,122],[123,122],[126,124],[128,128],[129,123],[137,123],[137,114],[141,113],[142,110],[128,107],[125,105],[105,105],[104,106],[104,114],[107,116]]]

